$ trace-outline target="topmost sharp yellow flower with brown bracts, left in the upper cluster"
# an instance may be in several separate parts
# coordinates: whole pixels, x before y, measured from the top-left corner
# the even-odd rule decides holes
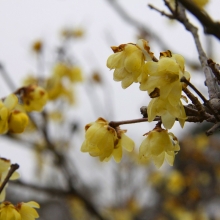
[[[138,82],[138,77],[143,71],[145,60],[152,60],[148,42],[138,40],[137,44],[121,44],[112,47],[114,54],[107,60],[107,67],[115,69],[113,78],[121,81],[122,88],[127,88],[133,82]]]

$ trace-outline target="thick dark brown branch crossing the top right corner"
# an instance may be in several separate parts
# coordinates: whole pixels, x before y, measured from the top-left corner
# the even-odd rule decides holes
[[[220,23],[215,22],[206,13],[205,10],[196,6],[191,0],[177,0],[180,2],[189,12],[191,12],[202,24],[204,32],[206,34],[212,34],[220,39]]]

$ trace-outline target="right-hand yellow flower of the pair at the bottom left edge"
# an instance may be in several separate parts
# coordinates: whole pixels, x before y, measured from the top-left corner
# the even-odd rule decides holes
[[[36,218],[39,218],[39,215],[34,208],[40,208],[40,206],[34,201],[19,203],[16,208],[20,213],[22,220],[35,220]]]

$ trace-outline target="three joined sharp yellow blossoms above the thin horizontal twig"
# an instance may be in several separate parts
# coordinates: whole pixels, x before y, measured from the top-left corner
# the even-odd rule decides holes
[[[190,79],[185,71],[184,58],[170,51],[160,53],[157,60],[150,51],[148,42],[138,40],[137,44],[122,44],[112,47],[114,54],[107,60],[107,66],[114,70],[114,80],[121,81],[122,88],[132,83],[140,84],[140,90],[147,91],[152,98],[148,105],[148,121],[161,116],[165,128],[172,128],[176,118],[183,127],[186,114],[181,99],[180,82],[184,76]]]

